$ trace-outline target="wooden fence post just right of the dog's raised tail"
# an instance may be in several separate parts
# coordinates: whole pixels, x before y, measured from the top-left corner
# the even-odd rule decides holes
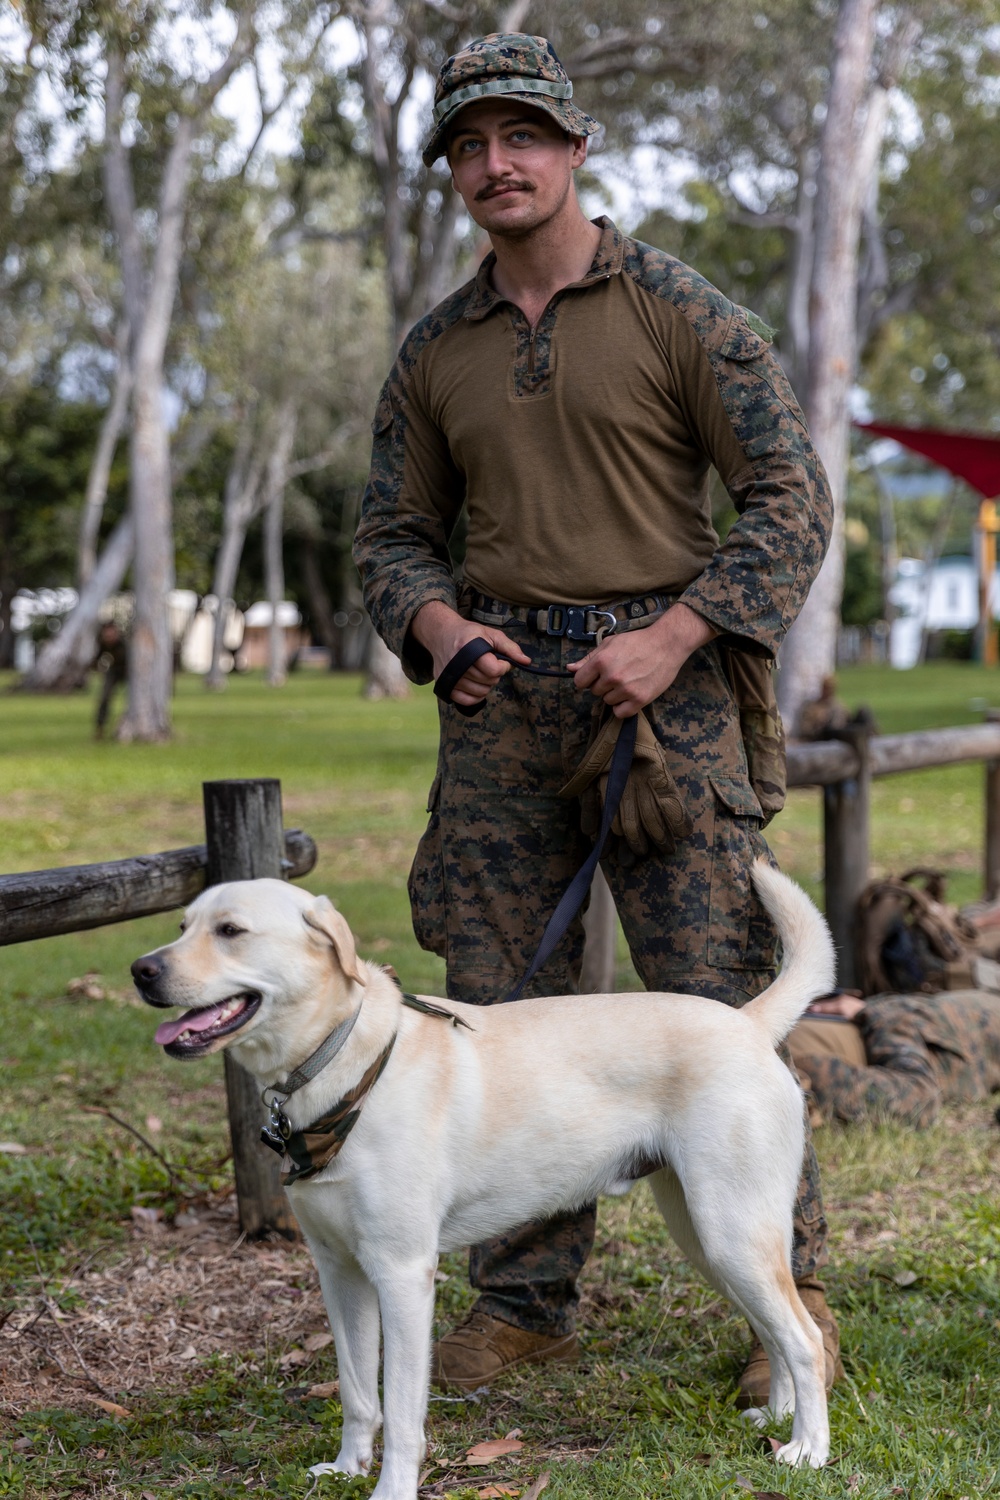
[[[858,754],[858,771],[843,782],[823,788],[823,882],[826,921],[837,948],[837,982],[856,987],[855,930],[858,897],[868,884],[871,736],[874,724],[868,710],[837,734]]]

